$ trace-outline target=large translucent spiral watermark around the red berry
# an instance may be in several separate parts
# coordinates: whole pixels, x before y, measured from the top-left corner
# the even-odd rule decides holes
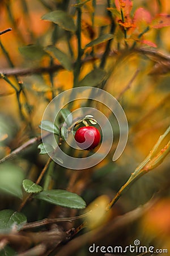
[[[77,120],[79,117],[79,119],[82,117],[84,118],[86,115],[92,115],[94,117],[94,119],[97,121],[97,124],[100,126],[102,135],[99,150],[94,152],[94,154],[87,156],[86,158],[76,158],[70,156],[69,154],[66,154],[66,152],[63,152],[61,147],[58,146],[58,142],[54,133],[46,136],[46,132],[41,129],[42,143],[44,144],[46,152],[48,152],[46,145],[50,144],[53,146],[53,148],[56,149],[55,154],[54,152],[48,152],[50,158],[52,158],[54,162],[58,163],[59,165],[73,170],[83,170],[95,166],[96,164],[100,163],[101,160],[105,158],[105,156],[108,155],[113,144],[114,129],[112,129],[112,124],[109,119],[105,116],[105,114],[101,113],[101,111],[92,107],[83,106],[83,100],[92,100],[100,102],[104,105],[104,107],[107,107],[108,112],[112,112],[114,117],[117,119],[120,137],[116,151],[113,155],[113,161],[116,161],[124,151],[126,142],[128,140],[128,121],[119,102],[111,94],[105,92],[105,90],[84,86],[66,90],[65,92],[60,93],[52,101],[50,101],[46,107],[42,117],[42,122],[48,120],[54,124],[60,110],[66,108],[66,105],[70,102],[75,102],[77,100],[82,102],[82,106],[71,113],[71,115],[73,115],[73,120]],[[69,116],[67,118],[69,118]],[[63,126],[67,126],[67,118],[65,123],[63,123]],[[70,128],[71,131],[73,131],[73,128],[74,126]],[[69,144],[70,147],[80,150],[75,142],[73,132],[68,134],[66,143]]]

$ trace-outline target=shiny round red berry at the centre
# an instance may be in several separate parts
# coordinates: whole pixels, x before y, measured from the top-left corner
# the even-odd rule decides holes
[[[84,126],[76,130],[75,141],[84,150],[92,150],[99,145],[100,132],[94,126]]]

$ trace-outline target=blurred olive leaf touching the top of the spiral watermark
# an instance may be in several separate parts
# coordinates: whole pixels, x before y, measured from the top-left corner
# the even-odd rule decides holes
[[[79,82],[79,86],[96,86],[104,80],[105,76],[106,72],[103,69],[95,68]]]

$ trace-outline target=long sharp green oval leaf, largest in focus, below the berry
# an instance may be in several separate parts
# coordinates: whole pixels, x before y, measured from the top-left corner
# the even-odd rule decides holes
[[[36,199],[44,200],[50,204],[60,205],[62,207],[83,209],[86,202],[82,197],[61,189],[52,189],[50,191],[42,191],[39,195],[34,196]]]

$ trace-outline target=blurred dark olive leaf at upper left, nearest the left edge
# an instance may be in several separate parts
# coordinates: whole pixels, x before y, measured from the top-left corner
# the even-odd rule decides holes
[[[19,51],[24,57],[31,60],[40,60],[48,54],[41,46],[36,46],[35,44],[19,47]]]

